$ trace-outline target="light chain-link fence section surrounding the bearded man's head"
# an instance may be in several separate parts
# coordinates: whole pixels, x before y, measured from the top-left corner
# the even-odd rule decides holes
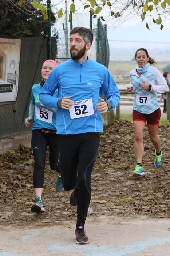
[[[63,61],[70,59],[70,27],[71,24],[67,22],[68,14],[64,14],[62,18],[56,21],[55,30],[58,28],[58,53],[56,61],[62,63]],[[74,14],[72,15],[72,27],[87,27],[90,29],[90,15],[89,14]],[[108,68],[109,64],[109,44],[107,39],[107,27],[103,26],[100,18],[92,19],[91,27],[96,42],[96,61],[103,64]]]

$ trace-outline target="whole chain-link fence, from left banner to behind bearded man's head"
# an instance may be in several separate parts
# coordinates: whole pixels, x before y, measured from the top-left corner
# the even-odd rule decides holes
[[[82,26],[90,28],[90,16],[88,14],[75,14],[72,16],[72,27]],[[0,25],[0,31],[2,29],[5,29],[4,23]],[[102,26],[100,20],[93,20],[91,29],[96,38],[96,61],[108,67],[109,47],[106,27],[104,28]],[[60,64],[70,59],[70,23],[68,23],[67,14],[57,20],[54,26],[52,26],[52,36],[54,35],[54,31],[55,38],[52,37],[51,40],[52,59],[55,59]],[[8,37],[11,38],[9,35]],[[19,37],[17,36],[17,38]],[[40,82],[41,65],[49,56],[49,41],[44,35],[40,37],[20,37],[20,39],[21,48],[17,98],[16,101],[8,102],[8,104],[5,103],[5,100],[3,103],[0,102],[0,138],[30,131],[30,128],[25,127],[24,119],[28,116],[29,103],[31,101],[31,87],[33,84]]]

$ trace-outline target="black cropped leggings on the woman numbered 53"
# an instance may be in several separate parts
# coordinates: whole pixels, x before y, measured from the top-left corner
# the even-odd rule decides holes
[[[46,160],[47,146],[49,146],[49,162],[52,170],[59,170],[59,143],[57,134],[48,134],[41,130],[32,131],[32,154],[34,157],[33,186],[34,188],[43,188],[44,168]]]

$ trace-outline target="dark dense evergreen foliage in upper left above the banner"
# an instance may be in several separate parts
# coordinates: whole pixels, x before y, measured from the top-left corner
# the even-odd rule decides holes
[[[0,35],[12,37],[47,35],[48,20],[44,21],[42,14],[42,11],[46,14],[47,9],[42,7],[41,11],[36,10],[31,3],[24,5],[20,2],[17,2],[17,5],[13,5],[12,1],[0,2]],[[56,20],[53,13],[51,20],[53,25]]]

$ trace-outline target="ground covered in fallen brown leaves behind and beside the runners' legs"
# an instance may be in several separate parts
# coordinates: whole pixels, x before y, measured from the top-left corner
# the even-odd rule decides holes
[[[158,134],[163,152],[162,167],[154,167],[155,151],[145,127],[143,168],[146,175],[133,177],[133,123],[118,120],[115,124],[104,127],[92,171],[92,200],[88,215],[95,218],[102,215],[141,214],[170,218],[170,140],[167,139],[170,138],[170,126],[159,125]],[[3,225],[27,226],[30,225],[30,218],[32,226],[39,226],[42,222],[47,222],[46,225],[49,226],[54,225],[54,222],[55,225],[69,226],[67,221],[73,219],[76,223],[76,207],[72,207],[69,202],[70,191],[56,192],[57,174],[55,170],[50,169],[48,159],[47,150],[42,196],[45,213],[35,214],[30,211],[35,198],[31,148],[21,146],[15,152],[0,155],[0,217],[8,216],[8,219],[0,219]],[[130,198],[130,201],[120,202],[123,198]],[[8,214],[9,212],[12,214]],[[32,215],[30,218],[24,217],[20,212]],[[44,220],[46,217],[48,221]]]

